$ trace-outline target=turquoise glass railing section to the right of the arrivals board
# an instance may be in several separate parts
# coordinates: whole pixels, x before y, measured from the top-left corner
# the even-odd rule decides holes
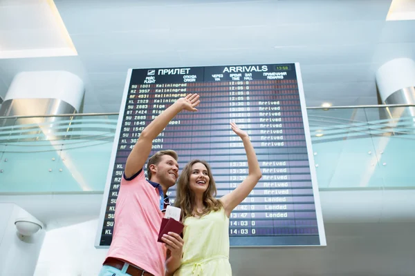
[[[415,117],[408,108],[308,110],[319,187],[415,187]]]

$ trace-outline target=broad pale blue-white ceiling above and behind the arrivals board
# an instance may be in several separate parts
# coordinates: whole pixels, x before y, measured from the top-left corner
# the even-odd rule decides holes
[[[377,68],[415,59],[415,21],[385,21],[390,3],[55,0],[78,56],[0,59],[0,96],[22,70],[68,70],[84,112],[117,112],[128,68],[298,61],[307,106],[376,104]]]

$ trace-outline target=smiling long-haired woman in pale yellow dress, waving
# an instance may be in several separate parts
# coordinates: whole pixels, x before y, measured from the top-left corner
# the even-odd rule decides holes
[[[229,263],[229,217],[261,179],[255,150],[248,134],[234,123],[231,128],[243,141],[248,176],[228,195],[215,199],[216,186],[205,161],[190,161],[178,179],[176,206],[183,214],[184,245],[178,275],[232,275]]]

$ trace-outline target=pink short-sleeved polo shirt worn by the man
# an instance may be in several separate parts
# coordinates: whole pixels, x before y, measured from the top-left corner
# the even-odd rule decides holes
[[[163,197],[161,186],[147,181],[143,170],[129,179],[123,175],[107,258],[122,259],[156,276],[165,274],[166,249],[157,242]]]

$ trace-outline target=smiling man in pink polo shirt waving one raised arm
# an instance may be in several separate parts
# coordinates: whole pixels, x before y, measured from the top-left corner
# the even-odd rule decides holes
[[[142,170],[151,152],[153,139],[182,110],[197,111],[199,95],[187,95],[164,110],[141,132],[131,150],[118,193],[114,233],[100,276],[170,274],[181,264],[183,239],[168,233],[157,242],[163,209],[169,205],[165,196],[178,178],[177,154],[173,150],[156,152]],[[166,252],[167,248],[167,252]],[[167,259],[166,259],[167,256]]]

